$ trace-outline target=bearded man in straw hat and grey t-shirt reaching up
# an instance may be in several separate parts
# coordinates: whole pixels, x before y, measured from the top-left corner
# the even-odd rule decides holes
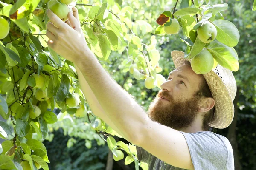
[[[76,65],[93,113],[136,144],[138,159],[149,170],[234,170],[228,139],[207,131],[225,128],[233,120],[236,82],[231,71],[218,65],[208,74],[195,74],[184,53],[172,51],[176,69],[146,112],[90,51],[76,8],[67,23],[50,10],[47,15],[48,46]]]

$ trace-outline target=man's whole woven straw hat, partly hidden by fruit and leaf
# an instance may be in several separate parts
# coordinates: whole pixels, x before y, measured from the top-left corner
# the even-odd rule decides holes
[[[184,64],[185,61],[191,59],[184,59],[184,52],[174,50],[171,52],[172,60],[175,68]],[[227,68],[217,65],[207,74],[203,74],[209,88],[212,92],[212,97],[215,100],[215,112],[210,127],[224,129],[228,127],[234,117],[233,100],[236,96],[236,80]]]

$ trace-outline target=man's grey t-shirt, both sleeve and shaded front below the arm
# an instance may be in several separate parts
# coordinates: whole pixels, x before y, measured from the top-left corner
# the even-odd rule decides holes
[[[181,133],[189,146],[195,170],[235,170],[233,149],[226,137],[210,131]],[[142,147],[136,149],[138,160],[147,163],[148,170],[185,170],[166,164]]]

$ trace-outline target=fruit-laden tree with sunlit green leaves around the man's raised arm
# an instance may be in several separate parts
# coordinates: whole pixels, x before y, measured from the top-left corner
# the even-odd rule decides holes
[[[122,136],[90,111],[74,64],[48,47],[47,9],[65,22],[68,12],[76,6],[84,37],[97,59],[105,68],[116,61],[118,74],[130,77],[127,81],[142,82],[146,91],[160,89],[166,82],[157,48],[157,38],[161,36],[182,34],[184,57],[192,59],[192,68],[198,73],[205,74],[217,64],[232,71],[239,69],[233,48],[239,41],[239,32],[221,15],[228,8],[226,3],[186,0],[178,8],[177,0],[175,6],[169,6],[170,11],[160,14],[158,26],[154,27],[145,20],[134,20],[143,11],[137,13],[125,1],[15,2],[0,1],[0,116],[7,120],[0,121],[0,138],[5,139],[0,144],[0,167],[6,170],[49,170],[50,161],[42,142],[49,138],[54,126],[63,124],[64,133],[81,137],[85,147],[91,147],[92,139],[99,145],[107,143],[115,161],[125,159],[125,164],[134,162],[136,169],[140,166],[146,170],[137,159],[135,145],[116,142],[110,134]],[[111,60],[113,56],[116,59]],[[61,110],[58,116],[57,108]],[[88,132],[70,130],[73,122],[83,124]],[[124,152],[128,155],[125,158]]]

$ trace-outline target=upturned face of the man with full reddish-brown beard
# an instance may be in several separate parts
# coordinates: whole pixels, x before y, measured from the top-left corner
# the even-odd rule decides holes
[[[194,94],[203,79],[189,65],[176,68],[151,102],[147,113],[149,118],[175,130],[189,127],[198,116],[199,98]]]

